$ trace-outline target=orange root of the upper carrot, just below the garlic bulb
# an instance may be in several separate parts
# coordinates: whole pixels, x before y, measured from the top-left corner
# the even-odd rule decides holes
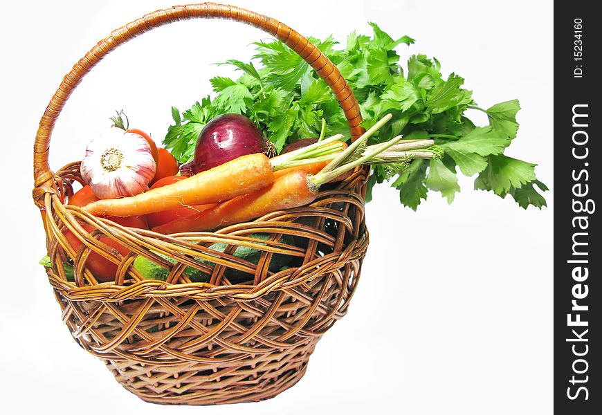
[[[265,154],[249,154],[228,161],[171,185],[157,187],[136,196],[102,199],[86,205],[91,214],[134,216],[230,200],[261,189],[274,181],[270,159]]]

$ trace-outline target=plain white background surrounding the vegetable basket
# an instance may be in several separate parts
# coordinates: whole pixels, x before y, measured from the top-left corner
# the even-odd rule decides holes
[[[552,3],[543,1],[243,1],[304,35],[344,40],[377,22],[401,46],[434,55],[482,107],[520,99],[508,154],[538,163],[553,188]],[[1,407],[63,414],[550,414],[552,206],[522,210],[461,181],[453,205],[431,193],[418,212],[378,187],[367,205],[370,249],[347,316],[320,341],[304,378],[263,403],[172,408],[143,403],[82,351],[60,321],[42,266],[44,232],[30,198],[39,118],[62,76],[110,30],[170,1],[37,1],[3,6],[0,239]],[[294,5],[294,6],[293,6]],[[122,46],[69,100],[51,167],[82,157],[86,142],[126,109],[161,140],[170,106],[188,108],[265,38],[229,21],[188,21]],[[475,120],[485,123],[479,113]]]

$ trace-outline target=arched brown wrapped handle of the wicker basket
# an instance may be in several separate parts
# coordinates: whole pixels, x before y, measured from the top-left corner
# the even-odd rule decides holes
[[[46,111],[44,111],[44,116],[42,116],[42,120],[39,122],[39,129],[35,136],[35,146],[33,149],[34,199],[42,199],[45,193],[53,192],[53,172],[48,166],[48,149],[50,147],[51,133],[65,102],[69,99],[69,96],[86,73],[109,52],[129,39],[133,39],[138,35],[142,35],[147,30],[154,29],[163,24],[198,17],[230,19],[249,24],[250,26],[264,30],[286,44],[286,46],[289,46],[289,48],[298,53],[305,62],[315,69],[318,75],[330,86],[336,95],[340,107],[345,112],[352,139],[361,136],[364,129],[360,125],[362,120],[360,109],[349,85],[340,75],[338,68],[316,46],[295,32],[295,30],[276,19],[236,6],[215,3],[174,6],[164,10],[156,10],[117,30],[113,30],[109,37],[98,42],[64,77],[59,89],[53,95],[48,107],[46,107]]]

